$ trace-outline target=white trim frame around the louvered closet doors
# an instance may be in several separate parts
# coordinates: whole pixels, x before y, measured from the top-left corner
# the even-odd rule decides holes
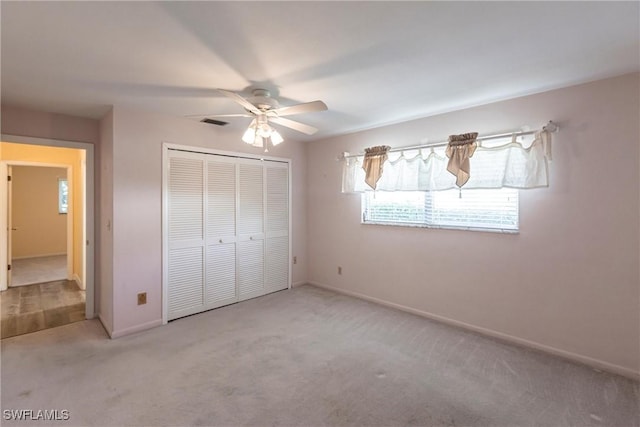
[[[293,280],[292,267],[291,267],[291,254],[292,254],[292,246],[293,246],[293,235],[291,231],[293,229],[292,224],[292,212],[293,206],[291,205],[292,199],[291,196],[293,194],[291,188],[291,159],[287,159],[284,157],[271,157],[271,156],[263,156],[260,154],[252,154],[252,153],[240,153],[234,151],[224,151],[224,150],[216,150],[212,148],[205,147],[194,147],[190,145],[180,145],[174,144],[170,142],[162,143],[162,324],[166,325],[169,322],[169,151],[177,150],[177,151],[186,151],[190,153],[199,153],[199,154],[213,154],[218,156],[226,156],[226,157],[235,157],[241,159],[253,159],[253,160],[269,160],[273,162],[286,163],[289,170],[289,280],[288,280],[288,289],[291,289],[291,282]]]

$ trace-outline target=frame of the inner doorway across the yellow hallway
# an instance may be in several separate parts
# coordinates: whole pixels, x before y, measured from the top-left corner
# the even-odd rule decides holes
[[[13,196],[13,189],[11,191],[6,191],[4,190],[5,188],[8,188],[9,185],[5,185],[8,184],[8,182],[6,181],[6,177],[8,175],[8,171],[10,169],[12,169],[14,166],[26,166],[26,167],[37,167],[37,168],[57,168],[57,169],[64,169],[66,171],[67,174],[67,182],[69,183],[69,188],[73,188],[73,166],[66,164],[66,163],[44,163],[44,162],[32,162],[32,161],[22,161],[22,160],[1,160],[0,161],[0,173],[1,178],[0,178],[0,182],[2,183],[2,190],[0,191],[0,200],[6,200],[7,201],[7,207],[11,208],[12,206],[12,196]],[[7,173],[5,173],[5,171]],[[13,173],[13,172],[12,172]],[[13,182],[13,181],[12,181]],[[71,201],[74,200],[74,198],[77,197],[77,195],[75,195],[73,193],[73,190],[71,190]],[[73,212],[73,209],[71,209],[69,212],[67,212],[67,236],[66,236],[66,248],[67,248],[67,280],[73,280],[73,220],[74,220],[74,215],[75,213]],[[5,225],[6,224],[6,225]],[[10,245],[13,244],[13,237],[11,237],[11,230],[9,230],[10,227],[13,226],[13,218],[12,218],[12,214],[11,212],[7,212],[6,213],[6,217],[3,215],[2,217],[0,217],[0,229],[6,230],[6,242],[7,242],[7,249],[6,249],[6,260],[7,260],[7,264],[11,264],[11,261],[13,260],[13,257],[11,256],[13,249]],[[2,239],[0,238],[0,241]],[[4,261],[4,259],[0,258],[0,262]],[[0,264],[0,265],[4,265],[4,264]],[[4,276],[0,276],[0,289],[1,290],[6,290],[8,287],[11,287],[11,283],[10,283],[10,276],[11,273],[9,272],[5,272],[4,269],[3,273],[6,274],[6,278]]]

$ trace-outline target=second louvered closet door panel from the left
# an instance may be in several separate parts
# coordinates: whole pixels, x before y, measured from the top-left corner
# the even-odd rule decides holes
[[[238,300],[236,292],[235,159],[208,156],[206,191],[205,305]]]

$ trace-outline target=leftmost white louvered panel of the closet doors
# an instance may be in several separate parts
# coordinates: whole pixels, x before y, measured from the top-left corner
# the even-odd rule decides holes
[[[204,161],[172,152],[168,172],[168,320],[204,306]]]

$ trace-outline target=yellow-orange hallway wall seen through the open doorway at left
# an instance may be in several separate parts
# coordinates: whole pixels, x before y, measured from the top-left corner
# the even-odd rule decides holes
[[[73,274],[84,285],[82,272],[83,179],[81,176],[84,152],[72,148],[0,142],[0,160],[47,163],[71,167],[69,208],[73,215]]]

